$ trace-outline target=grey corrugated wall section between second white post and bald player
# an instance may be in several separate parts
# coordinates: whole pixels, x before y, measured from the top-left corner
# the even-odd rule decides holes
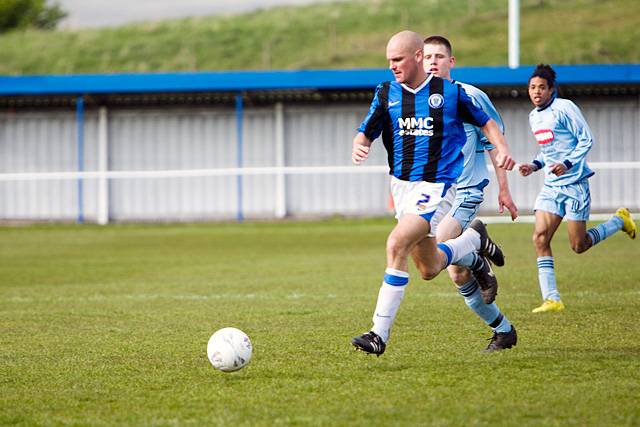
[[[286,108],[287,165],[351,165],[351,141],[367,109],[367,105]],[[367,165],[386,164],[382,144],[377,148]],[[379,215],[388,203],[387,186],[384,173],[289,176],[287,207],[299,215]]]

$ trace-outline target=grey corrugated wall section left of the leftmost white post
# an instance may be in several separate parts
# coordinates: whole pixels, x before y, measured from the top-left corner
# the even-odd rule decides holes
[[[0,115],[0,173],[76,171],[75,113]],[[85,138],[97,139],[97,116],[88,114]],[[95,144],[85,149],[85,168],[95,170]],[[83,183],[85,209],[95,215],[95,182]],[[0,181],[0,219],[75,220],[77,181]]]

